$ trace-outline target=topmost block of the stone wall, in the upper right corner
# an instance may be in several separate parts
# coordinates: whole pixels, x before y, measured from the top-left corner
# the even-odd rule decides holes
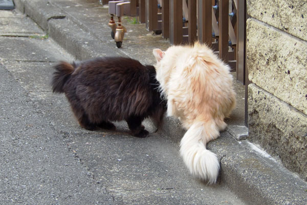
[[[305,0],[247,0],[247,13],[254,18],[307,40]]]

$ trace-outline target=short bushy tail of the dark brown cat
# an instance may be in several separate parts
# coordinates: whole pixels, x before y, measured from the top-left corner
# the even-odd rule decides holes
[[[74,72],[74,66],[65,61],[61,61],[54,66],[55,72],[52,78],[52,91],[54,93],[63,93],[63,87],[68,77]]]

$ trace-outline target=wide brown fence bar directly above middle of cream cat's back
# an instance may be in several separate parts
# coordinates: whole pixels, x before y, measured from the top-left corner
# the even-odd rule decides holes
[[[208,0],[199,0],[198,39],[209,47],[212,44],[212,3]]]

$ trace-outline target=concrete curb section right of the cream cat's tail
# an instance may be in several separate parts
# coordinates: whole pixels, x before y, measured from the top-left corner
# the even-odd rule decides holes
[[[306,182],[248,140],[227,136],[224,132],[207,146],[221,159],[222,183],[248,204],[305,204]]]

